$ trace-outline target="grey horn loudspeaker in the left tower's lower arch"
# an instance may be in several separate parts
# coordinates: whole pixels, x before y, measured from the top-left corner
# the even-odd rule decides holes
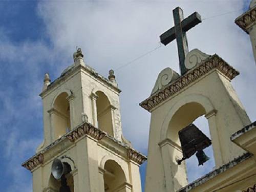
[[[71,172],[71,167],[68,163],[55,159],[52,163],[52,175],[55,179],[60,179],[62,175]]]

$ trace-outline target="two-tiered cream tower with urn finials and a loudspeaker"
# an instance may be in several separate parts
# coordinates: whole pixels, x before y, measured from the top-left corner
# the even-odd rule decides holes
[[[122,135],[114,71],[106,79],[83,61],[51,82],[40,94],[44,141],[23,166],[33,174],[33,191],[141,192],[139,166],[146,157]]]

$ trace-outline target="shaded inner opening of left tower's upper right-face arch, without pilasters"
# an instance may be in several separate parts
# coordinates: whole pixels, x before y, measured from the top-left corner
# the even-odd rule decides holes
[[[96,100],[98,127],[109,135],[114,136],[110,101],[101,91],[97,91],[96,95],[98,96]]]

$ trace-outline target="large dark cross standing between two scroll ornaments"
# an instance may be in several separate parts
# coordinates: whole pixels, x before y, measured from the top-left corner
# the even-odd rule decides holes
[[[195,27],[197,24],[201,23],[202,20],[200,14],[197,12],[183,19],[183,10],[180,7],[175,8],[173,10],[173,14],[175,26],[160,35],[160,40],[161,43],[166,46],[176,38],[180,61],[180,71],[181,75],[183,75],[187,71],[184,63],[185,57],[188,53],[186,32]]]

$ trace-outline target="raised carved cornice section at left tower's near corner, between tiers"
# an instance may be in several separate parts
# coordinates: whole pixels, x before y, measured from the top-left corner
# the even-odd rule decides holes
[[[88,122],[84,122],[81,126],[79,126],[74,131],[70,132],[66,137],[71,141],[75,142],[77,139],[82,137],[83,135],[90,135],[94,139],[101,140],[106,133],[97,129],[92,124]]]

